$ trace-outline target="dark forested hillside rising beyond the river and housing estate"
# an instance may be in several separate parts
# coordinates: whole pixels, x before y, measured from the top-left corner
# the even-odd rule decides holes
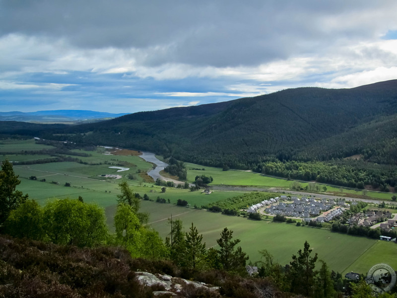
[[[0,133],[150,150],[183,161],[238,169],[258,170],[270,161],[322,162],[356,155],[364,171],[368,162],[392,165],[386,176],[393,180],[397,177],[396,124],[397,80],[390,80],[351,89],[287,89],[65,128],[2,123]],[[352,163],[348,161],[348,166],[357,168]],[[311,179],[319,171],[313,169]],[[292,178],[294,173],[282,173],[288,175]],[[337,183],[371,183],[364,176],[341,177]]]

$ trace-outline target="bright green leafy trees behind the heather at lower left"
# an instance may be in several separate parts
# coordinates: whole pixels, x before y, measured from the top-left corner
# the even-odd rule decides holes
[[[4,231],[61,245],[95,247],[121,245],[133,257],[163,259],[168,249],[159,234],[147,228],[148,215],[139,212],[140,199],[126,182],[120,184],[121,195],[114,218],[115,234],[107,228],[105,212],[96,205],[78,200],[55,200],[41,207],[33,200],[14,206],[3,224]]]

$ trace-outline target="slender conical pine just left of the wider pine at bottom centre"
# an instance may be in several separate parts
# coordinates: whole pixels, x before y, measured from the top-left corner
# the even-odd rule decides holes
[[[196,226],[190,227],[190,232],[186,233],[186,265],[190,268],[196,269],[202,264],[206,256],[205,242],[202,242],[202,234]]]

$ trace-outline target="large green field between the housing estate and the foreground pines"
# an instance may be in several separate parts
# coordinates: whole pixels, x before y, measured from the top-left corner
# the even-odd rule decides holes
[[[151,205],[156,205],[157,210]],[[233,236],[241,239],[240,245],[250,256],[250,261],[260,260],[261,249],[267,249],[274,260],[282,265],[289,264],[292,254],[297,254],[303,248],[307,240],[317,252],[319,259],[327,262],[329,267],[338,272],[349,272],[353,269],[360,273],[365,273],[373,264],[372,262],[386,262],[390,254],[383,256],[377,254],[372,259],[359,259],[361,254],[371,251],[372,247],[380,240],[368,239],[365,237],[355,237],[346,234],[332,233],[327,229],[319,229],[308,226],[295,226],[294,224],[273,223],[270,221],[251,221],[243,217],[234,217],[215,214],[203,210],[177,207],[169,204],[160,205],[152,202],[142,202],[142,211],[150,212],[149,224],[162,237],[166,237],[170,232],[167,219],[173,216],[174,219],[183,221],[185,231],[193,222],[199,233],[203,234],[203,239],[207,247],[216,247],[216,239],[220,237],[220,232],[224,227],[234,231]],[[109,210],[108,210],[109,211]],[[110,214],[110,212],[108,212]],[[394,244],[394,243],[382,243]],[[393,246],[397,249],[397,246]],[[357,260],[360,267],[352,266]],[[391,266],[397,267],[397,260]],[[358,271],[357,271],[358,272]]]

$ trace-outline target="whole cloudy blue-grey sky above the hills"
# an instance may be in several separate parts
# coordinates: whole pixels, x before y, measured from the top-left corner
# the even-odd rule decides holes
[[[0,0],[0,112],[134,113],[397,78],[396,0]]]

